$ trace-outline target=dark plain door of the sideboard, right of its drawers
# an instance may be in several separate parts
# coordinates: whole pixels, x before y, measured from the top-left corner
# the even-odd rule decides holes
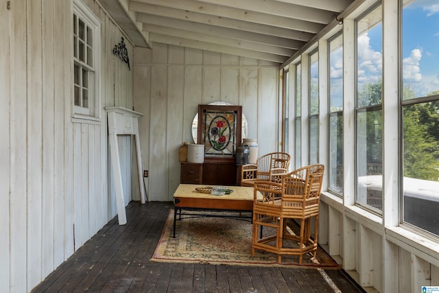
[[[203,184],[206,185],[236,185],[236,165],[233,163],[203,164]]]

